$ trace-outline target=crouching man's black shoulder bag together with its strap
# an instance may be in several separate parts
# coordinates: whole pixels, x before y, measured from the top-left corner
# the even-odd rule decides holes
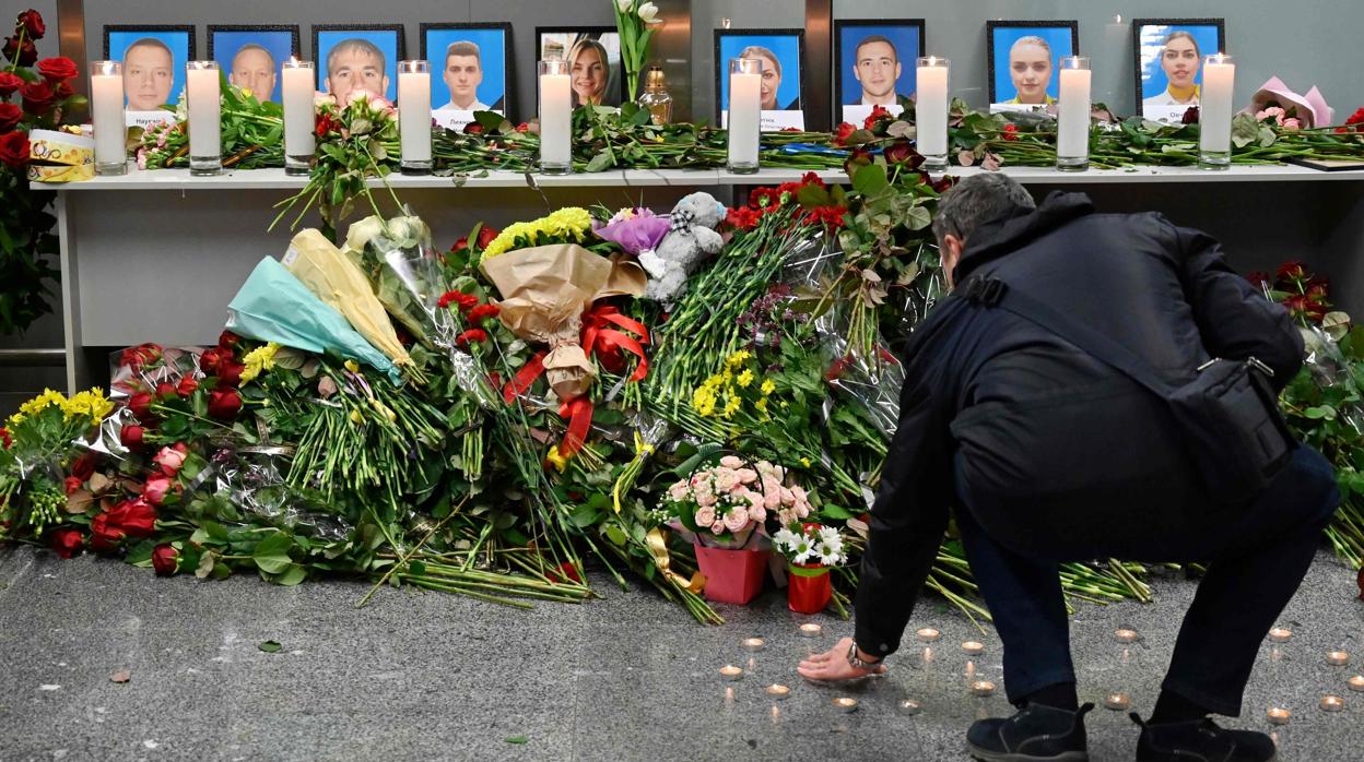
[[[1037,323],[1165,399],[1209,498],[1219,504],[1258,498],[1293,453],[1293,435],[1269,384],[1274,371],[1255,357],[1209,360],[1192,382],[1172,386],[1123,345],[1004,281],[977,275],[964,284],[963,296]]]

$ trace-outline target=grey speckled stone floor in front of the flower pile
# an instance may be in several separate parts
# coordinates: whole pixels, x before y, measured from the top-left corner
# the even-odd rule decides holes
[[[1293,638],[1278,661],[1266,643],[1230,721],[1269,731],[1264,710],[1288,707],[1284,759],[1364,761],[1364,694],[1346,684],[1364,672],[1353,579],[1318,558],[1282,618]],[[404,590],[356,609],[366,586],[351,582],[158,579],[0,548],[0,759],[966,759],[966,727],[1009,712],[993,633],[932,598],[888,675],[831,687],[795,665],[848,623],[792,615],[769,592],[723,607],[724,627],[700,627],[648,590],[596,583],[603,600],[531,612]],[[1123,691],[1150,712],[1195,583],[1155,589],[1153,605],[1080,605],[1082,701]],[[822,637],[802,638],[802,622]],[[941,630],[928,662],[913,633],[926,626]],[[1117,628],[1142,635],[1125,661]],[[749,637],[765,647],[745,652]],[[282,649],[261,652],[267,639]],[[971,679],[998,686],[989,698],[970,695],[966,639],[986,646]],[[1346,667],[1326,662],[1335,649]],[[726,682],[727,664],[746,673]],[[110,682],[117,669],[131,680]],[[786,701],[767,694],[773,683],[790,687]],[[1345,712],[1318,709],[1327,692]],[[902,712],[904,699],[922,712]],[[1125,713],[1098,709],[1088,728],[1093,759],[1132,759]]]

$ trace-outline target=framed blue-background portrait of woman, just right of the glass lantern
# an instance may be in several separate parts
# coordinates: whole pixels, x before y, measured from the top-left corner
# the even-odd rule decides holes
[[[730,123],[730,60],[762,61],[761,124],[764,132],[794,127],[805,129],[805,30],[715,30],[715,112],[720,125]]]

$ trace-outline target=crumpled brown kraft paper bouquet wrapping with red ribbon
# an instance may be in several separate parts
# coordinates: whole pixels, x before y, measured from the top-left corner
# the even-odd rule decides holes
[[[561,401],[587,394],[596,367],[580,345],[582,312],[608,296],[640,296],[638,264],[611,260],[577,244],[522,248],[480,266],[502,294],[499,319],[518,338],[546,344],[546,378]]]

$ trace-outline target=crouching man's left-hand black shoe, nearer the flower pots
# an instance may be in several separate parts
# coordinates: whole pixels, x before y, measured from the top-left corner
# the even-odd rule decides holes
[[[978,720],[966,732],[971,757],[985,762],[1088,762],[1086,703],[1076,712],[1030,703],[1007,718]]]

